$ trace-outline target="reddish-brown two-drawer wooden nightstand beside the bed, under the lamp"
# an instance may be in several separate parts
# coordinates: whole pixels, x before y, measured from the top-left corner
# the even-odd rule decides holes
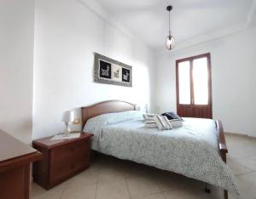
[[[43,153],[43,160],[33,164],[33,179],[49,190],[90,167],[90,137],[80,132],[78,139],[33,140],[32,146]]]

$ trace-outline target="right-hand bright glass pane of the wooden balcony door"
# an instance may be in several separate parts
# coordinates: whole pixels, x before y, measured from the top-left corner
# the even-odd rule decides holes
[[[207,58],[193,61],[194,103],[208,105],[208,67]]]

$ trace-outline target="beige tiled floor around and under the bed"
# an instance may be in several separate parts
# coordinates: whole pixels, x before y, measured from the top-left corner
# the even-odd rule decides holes
[[[256,139],[226,136],[228,165],[237,179],[241,199],[256,199]],[[223,191],[175,173],[134,162],[98,156],[91,167],[51,190],[32,185],[34,199],[217,199]],[[236,197],[230,196],[230,199]]]

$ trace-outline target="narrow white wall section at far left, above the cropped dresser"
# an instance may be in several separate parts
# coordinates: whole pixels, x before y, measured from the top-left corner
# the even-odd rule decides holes
[[[32,139],[34,0],[0,1],[0,128]]]

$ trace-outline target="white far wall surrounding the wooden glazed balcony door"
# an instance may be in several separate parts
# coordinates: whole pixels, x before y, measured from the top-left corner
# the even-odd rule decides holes
[[[256,28],[158,56],[156,109],[176,111],[175,62],[211,53],[212,113],[226,132],[256,136]]]

